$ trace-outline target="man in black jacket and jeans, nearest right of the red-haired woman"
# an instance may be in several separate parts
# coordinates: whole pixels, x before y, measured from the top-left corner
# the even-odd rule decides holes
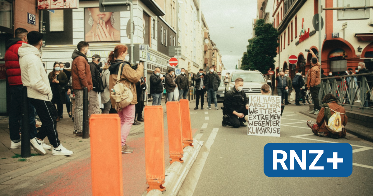
[[[153,74],[150,75],[150,94],[153,97],[153,106],[160,106],[162,100],[162,93],[163,93],[163,84],[162,80],[164,77],[160,77],[161,68],[156,67],[154,69]]]

